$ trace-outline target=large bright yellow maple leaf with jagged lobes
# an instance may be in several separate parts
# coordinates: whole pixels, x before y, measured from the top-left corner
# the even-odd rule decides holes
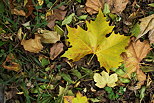
[[[112,32],[114,26],[109,26],[106,17],[100,11],[95,21],[86,22],[87,31],[81,27],[68,29],[68,41],[72,45],[62,57],[78,61],[87,54],[96,54],[100,66],[107,71],[118,67],[122,59],[120,54],[125,51],[129,37]],[[111,33],[112,32],[112,33]],[[106,34],[111,33],[109,37]]]

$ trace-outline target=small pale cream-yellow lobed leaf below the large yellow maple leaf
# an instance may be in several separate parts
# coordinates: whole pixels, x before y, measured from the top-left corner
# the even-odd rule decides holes
[[[100,74],[94,73],[94,81],[96,82],[95,85],[99,88],[104,88],[106,85],[109,87],[115,87],[115,82],[118,81],[118,76],[116,73],[109,76],[109,73],[102,71]]]

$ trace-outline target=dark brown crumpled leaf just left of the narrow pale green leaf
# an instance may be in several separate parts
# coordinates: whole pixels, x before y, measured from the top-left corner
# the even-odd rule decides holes
[[[63,20],[65,18],[66,15],[66,7],[65,6],[61,6],[57,9],[54,9],[53,11],[48,11],[46,13],[46,18],[48,21],[48,27],[51,29],[54,27],[55,25],[55,21],[56,20]]]

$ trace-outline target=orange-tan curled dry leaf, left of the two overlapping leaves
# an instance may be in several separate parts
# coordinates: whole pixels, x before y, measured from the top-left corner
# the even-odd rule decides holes
[[[40,36],[35,35],[34,39],[22,40],[21,45],[23,45],[24,49],[29,52],[38,53],[43,49],[40,39]]]

